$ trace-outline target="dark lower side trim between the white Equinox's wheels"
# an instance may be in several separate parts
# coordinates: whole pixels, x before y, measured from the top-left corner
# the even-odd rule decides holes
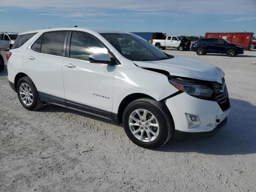
[[[87,106],[84,104],[80,104],[80,103],[76,103],[73,101],[69,101],[69,100],[65,100],[63,98],[59,98],[50,94],[46,94],[43,92],[39,92],[40,94],[40,98],[42,100],[42,102],[46,102],[46,103],[51,103],[51,104],[55,104],[58,106],[62,106],[65,108],[69,108],[72,110],[76,110],[76,111],[80,111],[80,112],[84,112],[87,114],[91,114],[91,115],[95,115],[101,118],[105,118],[108,120],[113,120],[115,123],[117,123],[117,114],[106,111],[106,110],[102,110],[102,109],[98,109],[95,107],[91,107],[91,106]]]

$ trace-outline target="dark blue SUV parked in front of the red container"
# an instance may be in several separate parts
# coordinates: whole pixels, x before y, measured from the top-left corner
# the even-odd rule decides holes
[[[195,51],[198,55],[222,53],[233,57],[237,54],[244,54],[243,45],[233,44],[222,38],[197,38],[192,42],[191,50]]]

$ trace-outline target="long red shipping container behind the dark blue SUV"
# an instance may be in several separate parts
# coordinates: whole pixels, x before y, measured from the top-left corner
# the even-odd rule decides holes
[[[250,44],[254,33],[205,33],[205,37],[218,37],[228,40],[231,43],[242,44],[246,50],[250,50]]]

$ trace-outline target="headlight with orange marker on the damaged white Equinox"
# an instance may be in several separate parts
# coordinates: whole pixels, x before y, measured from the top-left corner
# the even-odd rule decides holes
[[[196,81],[186,82],[182,80],[169,79],[170,84],[176,87],[181,92],[198,97],[198,98],[210,98],[213,94],[213,90],[204,84],[197,83]]]

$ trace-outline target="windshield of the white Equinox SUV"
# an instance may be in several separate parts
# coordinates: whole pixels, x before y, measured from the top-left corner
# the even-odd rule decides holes
[[[156,61],[170,58],[146,40],[124,33],[101,33],[125,58],[132,61]]]

